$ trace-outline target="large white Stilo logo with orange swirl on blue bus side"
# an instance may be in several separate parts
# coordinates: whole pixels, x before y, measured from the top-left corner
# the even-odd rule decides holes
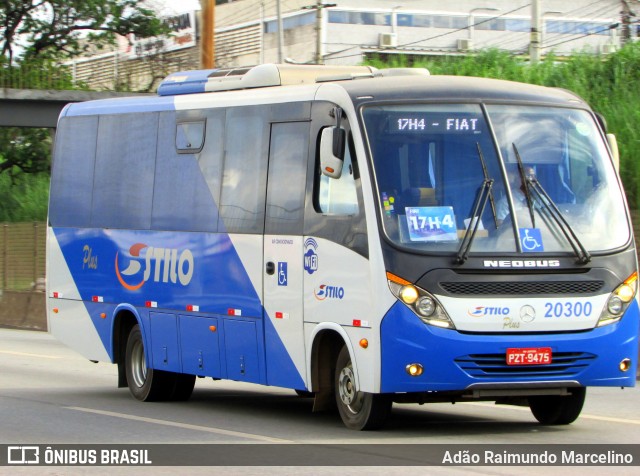
[[[119,251],[116,252],[116,277],[129,291],[140,289],[150,279],[156,283],[179,282],[187,286],[193,278],[193,253],[188,249],[179,253],[175,248],[154,248],[144,243],[136,243],[129,248],[129,262],[123,270],[119,254]],[[138,277],[141,271],[142,276]]]

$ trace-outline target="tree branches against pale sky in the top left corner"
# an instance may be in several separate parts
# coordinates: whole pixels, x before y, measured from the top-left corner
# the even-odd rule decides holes
[[[138,0],[2,0],[2,56],[25,58],[75,56],[88,45],[113,42],[116,35],[140,37],[166,33],[153,10]],[[87,41],[81,41],[82,38]]]

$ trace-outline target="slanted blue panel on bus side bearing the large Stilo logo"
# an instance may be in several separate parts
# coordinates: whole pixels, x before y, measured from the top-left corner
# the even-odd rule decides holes
[[[165,347],[173,345],[175,352],[181,348],[183,357],[193,354],[192,345],[200,345],[189,340],[178,343],[176,337],[178,328],[186,329],[184,326],[188,327],[191,322],[188,317],[194,315],[219,321],[221,361],[225,352],[233,349],[255,351],[258,356],[257,367],[247,367],[244,375],[234,375],[235,363],[227,361],[227,369],[231,369],[229,376],[225,369],[219,371],[220,375],[214,375],[216,371],[212,370],[208,376],[305,388],[276,329],[266,318],[259,293],[228,235],[73,228],[54,228],[54,233],[80,297],[112,360],[113,313],[116,306],[128,304],[143,317],[145,335],[153,336],[155,331],[156,341],[168,342]],[[261,235],[255,238],[261,253]],[[261,268],[259,261],[256,266]],[[102,302],[94,302],[97,300]],[[101,318],[101,313],[108,318]],[[175,322],[171,316],[175,316]],[[255,323],[255,328],[232,321]],[[207,324],[205,330],[208,327]],[[255,332],[255,336],[245,336],[244,330]],[[191,331],[189,327],[185,334]],[[255,348],[244,342],[247,339],[254,339]],[[154,346],[153,342],[146,345]],[[153,366],[159,358],[155,353],[151,357]],[[248,359],[248,366],[253,365],[251,356],[241,357]],[[170,367],[165,367],[166,370],[183,369],[181,363],[175,363],[175,358],[167,365]],[[192,362],[185,367],[191,372],[194,370]],[[204,370],[202,374],[207,375]]]

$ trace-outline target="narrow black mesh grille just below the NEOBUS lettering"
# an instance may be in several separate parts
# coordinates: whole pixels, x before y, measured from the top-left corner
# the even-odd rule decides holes
[[[592,294],[604,286],[604,281],[456,281],[440,286],[451,294]]]

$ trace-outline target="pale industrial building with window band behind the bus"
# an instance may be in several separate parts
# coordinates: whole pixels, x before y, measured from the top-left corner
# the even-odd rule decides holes
[[[359,64],[488,48],[523,57],[607,54],[637,39],[639,7],[638,0],[237,0],[215,8],[215,65]],[[113,51],[70,62],[74,78],[97,89],[151,91],[171,72],[198,69],[198,12],[175,11],[168,21],[170,38],[123,39]]]

